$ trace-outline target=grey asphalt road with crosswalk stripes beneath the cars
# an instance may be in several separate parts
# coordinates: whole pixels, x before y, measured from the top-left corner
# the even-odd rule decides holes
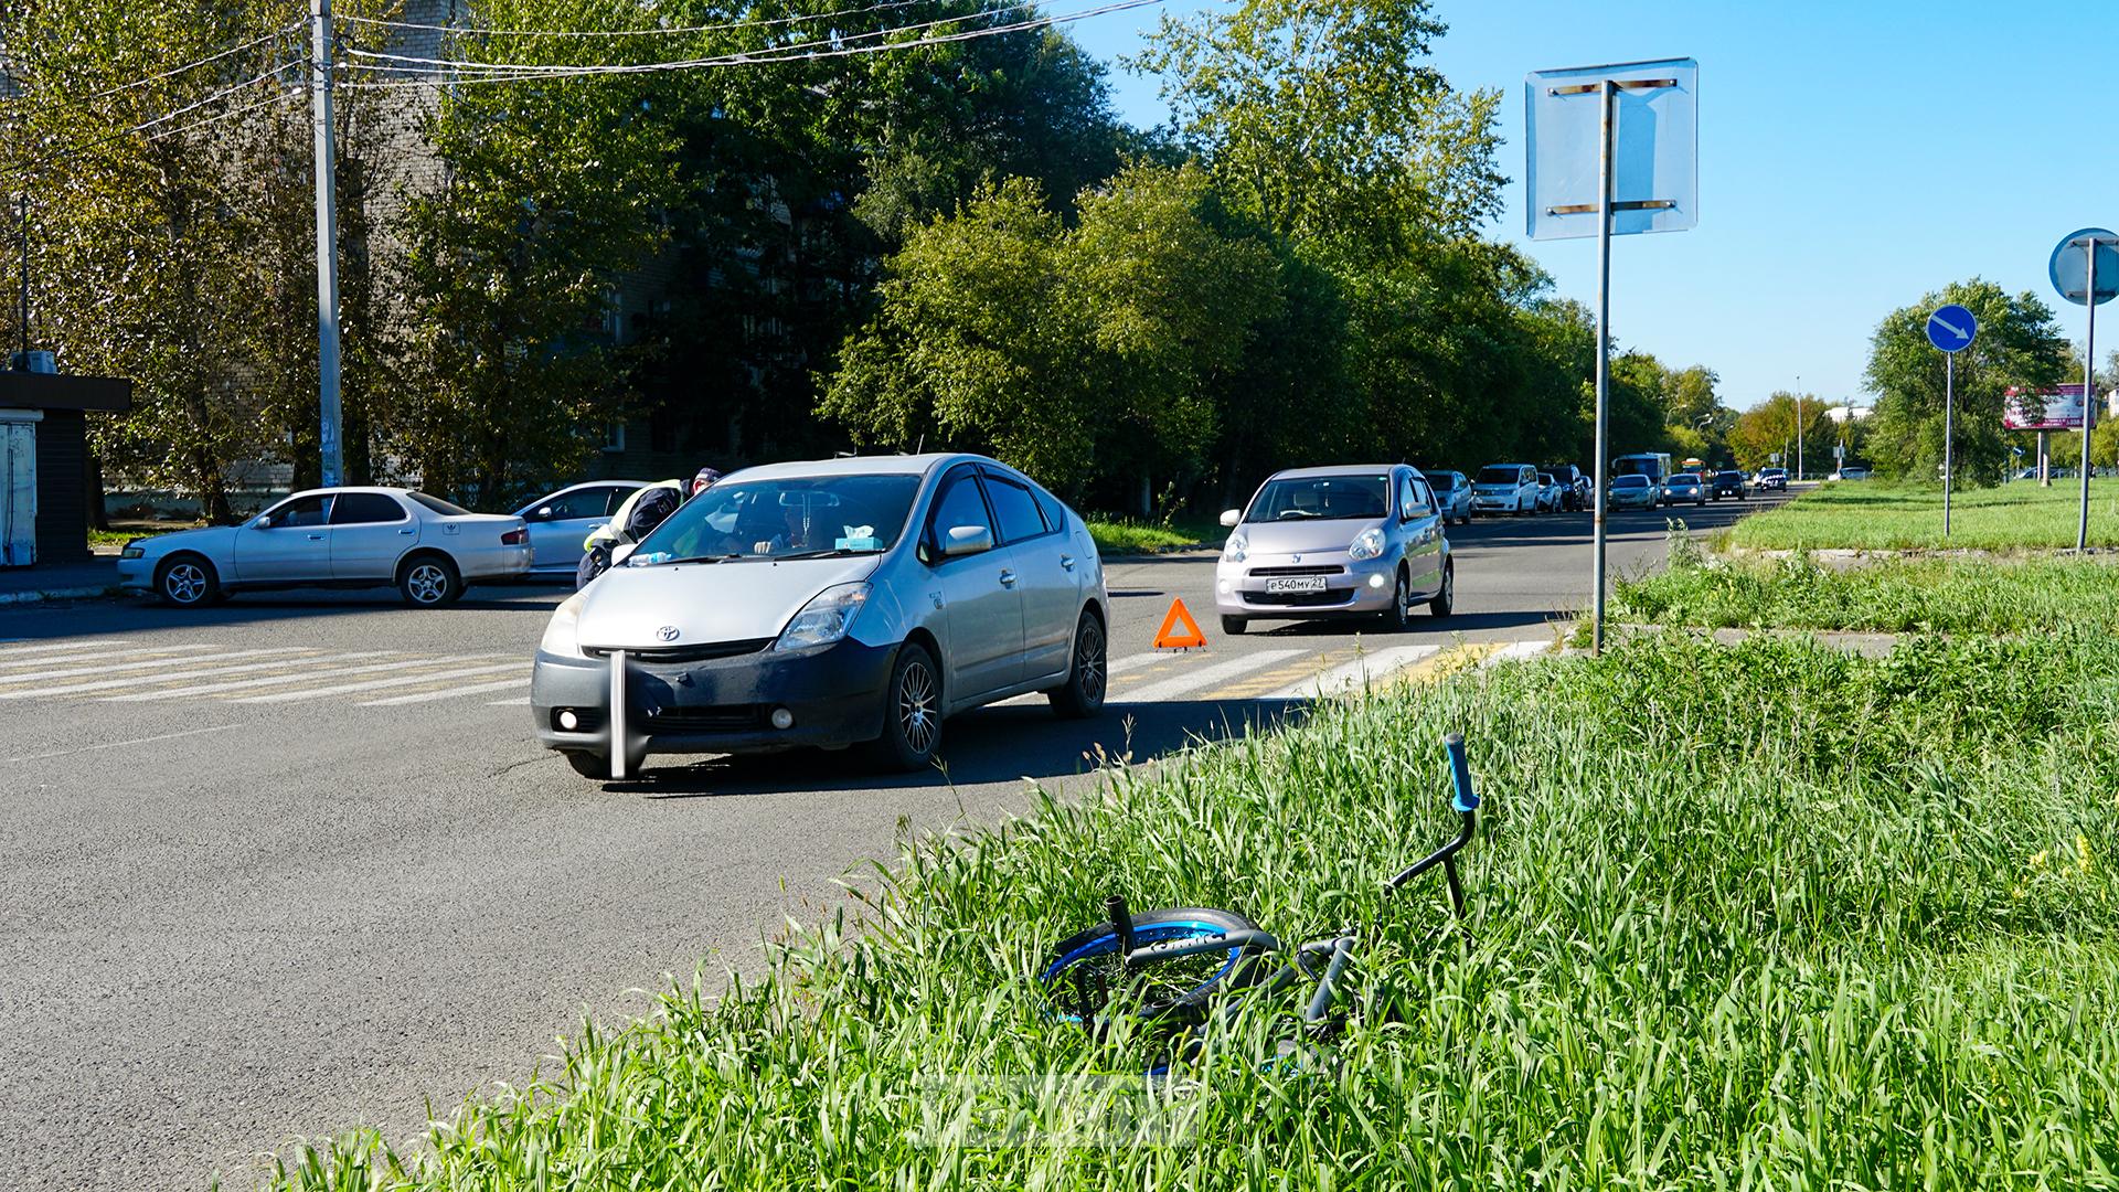
[[[1759,503],[1685,509],[1695,528]],[[0,1186],[250,1184],[259,1152],[354,1124],[405,1139],[523,1080],[581,1016],[759,963],[784,916],[907,829],[1079,789],[1102,747],[1155,757],[1269,723],[1356,647],[1551,641],[1587,602],[1585,513],[1452,530],[1458,613],[1379,641],[1212,617],[1212,556],[1115,560],[1112,706],[1043,700],[947,728],[947,774],[829,755],[651,759],[595,785],[530,740],[528,658],[557,588],[445,611],[394,594],[0,611]],[[1613,520],[1613,573],[1661,513]],[[1146,658],[1174,596],[1208,649]]]

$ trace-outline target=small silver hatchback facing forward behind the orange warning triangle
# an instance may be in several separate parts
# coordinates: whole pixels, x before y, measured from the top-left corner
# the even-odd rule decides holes
[[[1426,477],[1409,464],[1318,467],[1274,473],[1221,524],[1229,543],[1214,568],[1221,628],[1261,617],[1382,617],[1411,624],[1413,607],[1447,617],[1456,562]]]

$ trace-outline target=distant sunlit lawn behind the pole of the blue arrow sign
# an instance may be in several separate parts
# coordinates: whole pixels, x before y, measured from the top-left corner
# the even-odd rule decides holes
[[[2053,549],[2072,547],[2081,481],[2030,481],[1956,492],[1943,539],[1941,486],[1827,484],[1744,518],[1729,545],[1748,549]],[[2089,543],[2119,545],[2119,479],[2089,481]]]

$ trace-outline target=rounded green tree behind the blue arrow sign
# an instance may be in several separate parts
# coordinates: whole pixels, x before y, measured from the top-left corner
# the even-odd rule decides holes
[[[1877,395],[1869,454],[1886,475],[1935,479],[1943,462],[1943,354],[1928,344],[1928,314],[1960,303],[1979,339],[1956,354],[1958,484],[1994,484],[2011,460],[2002,439],[2005,392],[2043,390],[2066,371],[2066,339],[2036,295],[2009,295],[1973,278],[1890,312],[1869,341],[1865,384]]]

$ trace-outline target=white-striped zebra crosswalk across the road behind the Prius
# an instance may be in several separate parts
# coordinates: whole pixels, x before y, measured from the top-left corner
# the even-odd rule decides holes
[[[1329,700],[1426,670],[1528,658],[1549,645],[1549,641],[1390,645],[1388,638],[1375,645],[1360,638],[1318,638],[1261,641],[1248,651],[1129,653],[1106,664],[1106,702],[1127,708],[1172,702]],[[468,700],[523,706],[530,702],[528,689],[526,651],[339,651],[290,645],[239,647],[225,641],[157,645],[146,638],[0,643],[0,704],[214,700],[246,706],[333,702],[400,708]],[[1043,696],[1007,700],[1007,704],[1030,702],[1043,702]]]

